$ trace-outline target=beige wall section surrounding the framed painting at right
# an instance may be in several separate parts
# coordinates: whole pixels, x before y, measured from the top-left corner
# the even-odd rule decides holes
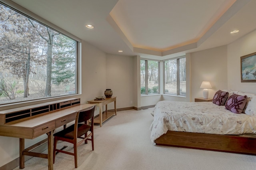
[[[228,89],[256,93],[256,83],[241,83],[240,57],[256,52],[256,30],[228,45]]]

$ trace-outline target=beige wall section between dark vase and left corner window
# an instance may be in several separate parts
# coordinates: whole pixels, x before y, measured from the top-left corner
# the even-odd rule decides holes
[[[117,108],[134,106],[134,71],[134,57],[106,55],[106,88],[112,89],[113,96],[117,97]],[[114,109],[113,103],[110,103],[108,108]]]

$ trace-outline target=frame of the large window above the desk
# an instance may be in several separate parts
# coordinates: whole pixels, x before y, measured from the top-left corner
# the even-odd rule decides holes
[[[30,100],[25,100],[25,101],[14,101],[14,102],[9,102],[9,103],[2,103],[0,104],[0,106],[5,106],[5,105],[18,105],[21,103],[27,103],[27,102],[36,102],[36,101],[45,101],[47,99],[54,99],[54,98],[63,98],[63,97],[68,97],[68,96],[74,96],[74,95],[80,95],[81,94],[81,89],[80,89],[80,62],[81,62],[81,46],[82,46],[82,40],[76,36],[74,36],[73,34],[70,34],[69,32],[63,30],[62,28],[52,24],[51,22],[48,22],[47,20],[45,20],[44,18],[30,12],[29,10],[27,10],[26,8],[16,4],[15,2],[12,2],[10,0],[4,0],[3,2],[0,1],[0,4],[3,6],[6,6],[7,8],[10,8],[11,10],[14,10],[18,13],[20,13],[21,15],[30,18],[31,20],[34,20],[35,22],[38,22],[40,24],[42,24],[43,26],[46,26],[60,34],[62,34],[63,36],[66,36],[72,40],[74,40],[76,42],[75,44],[75,81],[76,81],[76,85],[75,85],[75,93],[74,94],[69,94],[69,95],[59,95],[59,96],[51,96],[51,97],[42,97],[42,98],[38,98],[38,99],[30,99]]]

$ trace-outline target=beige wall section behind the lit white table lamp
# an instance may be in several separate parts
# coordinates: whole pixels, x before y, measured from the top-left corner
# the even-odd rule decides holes
[[[196,97],[203,97],[200,85],[202,81],[210,81],[212,89],[209,97],[216,91],[227,89],[227,46],[220,46],[203,51],[190,53],[191,56],[191,101]]]

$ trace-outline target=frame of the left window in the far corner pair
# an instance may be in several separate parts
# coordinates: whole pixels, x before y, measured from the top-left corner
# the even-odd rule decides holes
[[[147,95],[158,95],[160,94],[160,61],[154,59],[145,59],[140,58],[140,61],[145,61],[145,94],[141,94],[140,96],[147,96]],[[157,61],[158,62],[158,93],[150,93],[148,94],[148,61]]]

